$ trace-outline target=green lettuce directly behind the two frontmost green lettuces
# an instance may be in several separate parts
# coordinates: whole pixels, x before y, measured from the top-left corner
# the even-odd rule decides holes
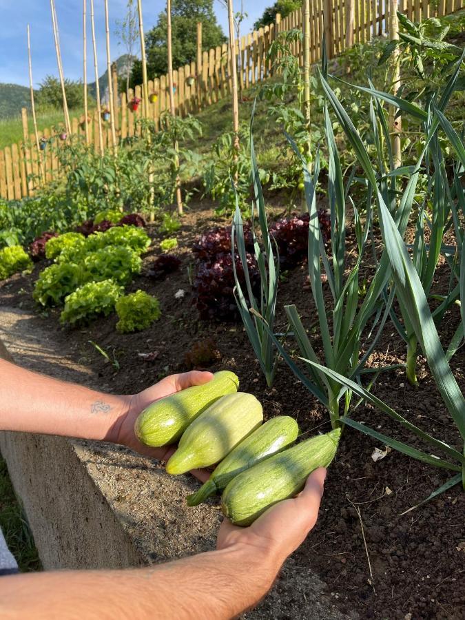
[[[109,280],[120,285],[129,284],[134,273],[141,273],[141,257],[127,247],[105,247],[83,257],[86,279],[93,282]]]

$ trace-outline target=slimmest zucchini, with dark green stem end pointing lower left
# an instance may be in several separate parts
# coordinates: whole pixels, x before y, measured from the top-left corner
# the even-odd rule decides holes
[[[289,415],[279,415],[265,422],[254,433],[240,442],[227,457],[220,462],[207,482],[196,493],[187,497],[188,506],[198,506],[207,497],[222,490],[241,471],[249,469],[263,459],[284,450],[296,441],[299,427]]]

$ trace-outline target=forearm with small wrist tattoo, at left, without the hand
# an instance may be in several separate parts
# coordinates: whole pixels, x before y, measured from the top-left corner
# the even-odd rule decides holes
[[[103,394],[0,360],[0,430],[112,440],[130,397]]]

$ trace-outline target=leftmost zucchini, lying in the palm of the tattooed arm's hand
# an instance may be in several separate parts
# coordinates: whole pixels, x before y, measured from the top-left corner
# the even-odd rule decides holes
[[[152,402],[134,424],[134,433],[146,446],[158,448],[176,442],[187,426],[211,404],[237,392],[239,380],[231,371],[214,373],[203,385],[194,385]]]

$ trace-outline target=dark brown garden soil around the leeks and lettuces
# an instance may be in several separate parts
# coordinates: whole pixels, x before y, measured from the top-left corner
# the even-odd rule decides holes
[[[314,428],[329,430],[322,406],[285,364],[280,365],[273,389],[267,389],[241,322],[199,320],[189,283],[195,273],[190,248],[200,232],[218,224],[221,222],[213,218],[207,203],[188,211],[177,234],[179,247],[175,253],[182,260],[181,267],[163,281],[147,275],[160,254],[156,231],[151,231],[155,242],[144,260],[144,274],[130,287],[134,291],[145,289],[161,302],[161,320],[146,331],[119,335],[114,317],[85,329],[61,329],[56,310],[43,313],[44,326],[54,333],[63,351],[72,351],[81,364],[99,373],[102,389],[134,393],[169,373],[194,366],[212,371],[231,369],[240,378],[241,391],[255,394],[262,402],[267,418],[293,415],[302,433]],[[31,293],[41,268],[43,265],[32,276],[13,276],[1,283],[0,304],[34,308]],[[281,309],[285,302],[295,303],[304,324],[311,327],[317,317],[306,274],[306,265],[285,274],[278,301]],[[447,278],[447,269],[440,267],[435,288],[440,290]],[[176,298],[180,289],[185,295]],[[278,330],[285,327],[282,314],[279,318]],[[459,311],[454,308],[441,325],[443,344],[449,342],[458,322]],[[94,349],[90,340],[117,360],[119,370]],[[369,366],[397,364],[404,362],[404,356],[404,344],[388,322]],[[463,347],[451,366],[463,390]],[[381,373],[373,392],[415,424],[459,448],[457,430],[422,358],[418,378],[420,386],[415,389],[406,382],[402,370]],[[371,406],[360,405],[352,415],[382,428],[387,435],[401,440],[409,437],[411,444],[424,447]],[[439,499],[401,516],[450,474],[395,451],[374,462],[371,455],[375,447],[384,446],[350,428],[344,431],[338,456],[329,469],[318,525],[296,552],[296,567],[302,577],[307,570],[320,575],[327,584],[327,595],[342,612],[357,612],[362,618],[464,619],[465,494],[455,486]]]

